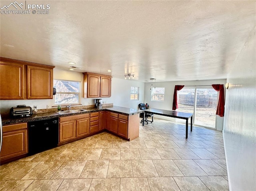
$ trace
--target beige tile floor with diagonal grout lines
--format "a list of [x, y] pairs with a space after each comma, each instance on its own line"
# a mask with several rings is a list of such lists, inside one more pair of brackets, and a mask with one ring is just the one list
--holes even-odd
[[226, 191], [222, 133], [155, 119], [130, 142], [103, 132], [0, 166], [1, 191]]

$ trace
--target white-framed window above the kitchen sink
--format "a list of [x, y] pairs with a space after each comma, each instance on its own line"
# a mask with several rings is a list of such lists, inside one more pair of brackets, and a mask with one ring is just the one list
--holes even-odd
[[56, 88], [54, 105], [80, 104], [80, 82], [54, 80], [53, 87]]

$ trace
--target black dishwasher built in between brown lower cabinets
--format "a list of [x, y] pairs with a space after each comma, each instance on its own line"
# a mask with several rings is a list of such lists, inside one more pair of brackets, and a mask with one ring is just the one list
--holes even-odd
[[58, 146], [58, 118], [28, 122], [28, 154], [33, 155]]

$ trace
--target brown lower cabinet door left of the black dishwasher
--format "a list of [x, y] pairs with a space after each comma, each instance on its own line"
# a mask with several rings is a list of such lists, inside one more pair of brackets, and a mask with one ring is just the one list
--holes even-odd
[[0, 160], [10, 159], [28, 153], [28, 132], [26, 129], [3, 133]]

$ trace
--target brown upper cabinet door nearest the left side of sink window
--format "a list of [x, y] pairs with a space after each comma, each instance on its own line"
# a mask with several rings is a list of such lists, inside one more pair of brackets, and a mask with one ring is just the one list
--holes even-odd
[[52, 69], [28, 66], [28, 99], [52, 99]]

